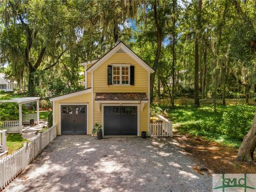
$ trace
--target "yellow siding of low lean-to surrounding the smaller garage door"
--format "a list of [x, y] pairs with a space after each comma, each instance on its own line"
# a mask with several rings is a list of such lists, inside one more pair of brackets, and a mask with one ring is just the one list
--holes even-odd
[[[58, 101], [55, 101], [55, 124], [57, 125], [57, 134], [60, 135], [60, 105], [65, 105], [65, 103], [88, 103], [88, 132], [87, 134], [91, 134], [91, 128], [92, 128], [92, 105], [91, 105], [91, 93], [85, 93], [82, 95], [77, 95], [75, 97], [67, 98], [67, 99], [61, 99]], [[60, 104], [61, 103], [61, 104]]]

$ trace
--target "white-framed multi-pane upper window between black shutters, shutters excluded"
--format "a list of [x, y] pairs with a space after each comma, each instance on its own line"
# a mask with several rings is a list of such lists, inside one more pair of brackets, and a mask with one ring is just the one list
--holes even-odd
[[113, 65], [113, 85], [130, 85], [130, 66]]

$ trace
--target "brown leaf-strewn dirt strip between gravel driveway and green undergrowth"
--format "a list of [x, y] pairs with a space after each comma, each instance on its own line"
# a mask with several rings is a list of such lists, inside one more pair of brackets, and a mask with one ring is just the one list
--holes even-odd
[[[177, 140], [184, 151], [201, 165], [210, 169], [212, 173], [256, 173], [254, 164], [236, 161], [238, 152], [236, 148], [225, 147], [203, 138], [181, 135], [177, 130], [173, 132], [173, 139]], [[198, 166], [194, 169], [197, 170]]]

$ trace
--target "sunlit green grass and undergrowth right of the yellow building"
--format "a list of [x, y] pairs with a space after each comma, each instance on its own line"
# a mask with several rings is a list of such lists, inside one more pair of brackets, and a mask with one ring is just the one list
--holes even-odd
[[217, 113], [214, 113], [213, 105], [199, 108], [178, 105], [174, 109], [169, 106], [159, 107], [180, 133], [203, 136], [204, 139], [232, 147], [241, 145], [256, 111], [256, 106], [249, 105], [218, 105]]

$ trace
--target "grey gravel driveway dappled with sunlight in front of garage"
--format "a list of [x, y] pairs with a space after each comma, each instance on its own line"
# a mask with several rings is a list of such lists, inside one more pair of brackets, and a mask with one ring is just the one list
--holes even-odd
[[61, 135], [4, 191], [210, 191], [171, 138]]

